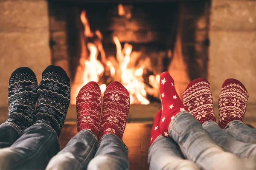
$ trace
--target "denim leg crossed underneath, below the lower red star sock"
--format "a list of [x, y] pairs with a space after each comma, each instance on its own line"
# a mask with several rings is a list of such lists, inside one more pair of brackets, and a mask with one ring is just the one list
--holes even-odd
[[173, 139], [158, 136], [148, 150], [149, 170], [200, 170], [192, 161], [182, 158]]

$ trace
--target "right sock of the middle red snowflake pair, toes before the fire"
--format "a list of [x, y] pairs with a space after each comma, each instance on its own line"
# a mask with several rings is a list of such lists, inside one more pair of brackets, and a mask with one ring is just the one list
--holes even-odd
[[99, 139], [108, 133], [115, 134], [122, 139], [129, 109], [129, 92], [119, 82], [110, 83], [103, 96]]

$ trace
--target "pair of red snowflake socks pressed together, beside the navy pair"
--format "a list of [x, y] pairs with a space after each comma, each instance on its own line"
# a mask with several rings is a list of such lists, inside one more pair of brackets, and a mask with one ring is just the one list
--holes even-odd
[[103, 104], [101, 94], [96, 82], [89, 82], [79, 91], [76, 97], [78, 132], [90, 130], [99, 140], [108, 133], [122, 139], [130, 109], [129, 92], [121, 83], [112, 82], [106, 88]]

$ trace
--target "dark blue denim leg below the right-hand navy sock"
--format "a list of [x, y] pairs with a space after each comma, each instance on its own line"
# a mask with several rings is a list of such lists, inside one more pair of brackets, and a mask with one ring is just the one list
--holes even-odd
[[0, 149], [1, 170], [44, 170], [58, 153], [58, 136], [48, 125], [28, 127], [11, 147]]

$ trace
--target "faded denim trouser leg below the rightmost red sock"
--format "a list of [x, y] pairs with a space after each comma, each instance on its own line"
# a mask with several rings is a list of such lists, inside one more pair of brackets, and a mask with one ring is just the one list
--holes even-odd
[[238, 141], [256, 144], [256, 129], [250, 128], [240, 120], [229, 122], [224, 130]]

